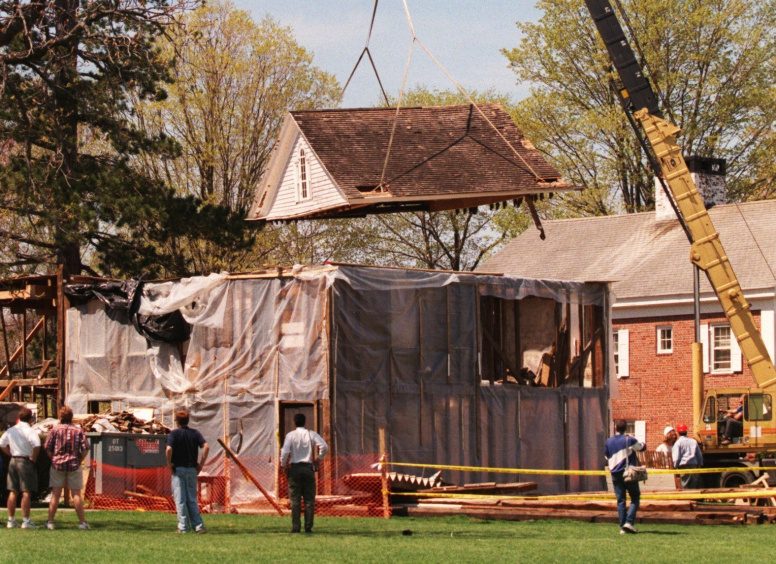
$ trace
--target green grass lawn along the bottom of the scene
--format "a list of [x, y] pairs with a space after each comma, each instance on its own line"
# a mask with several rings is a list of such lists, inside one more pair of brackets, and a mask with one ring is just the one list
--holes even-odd
[[[480, 521], [464, 517], [390, 520], [316, 518], [312, 535], [289, 534], [289, 519], [205, 515], [206, 535], [178, 535], [175, 516], [72, 512], [58, 529], [1, 529], [0, 562], [773, 562], [776, 526], [640, 525]], [[45, 522], [42, 510], [33, 520]], [[406, 534], [410, 532], [411, 534]]]

